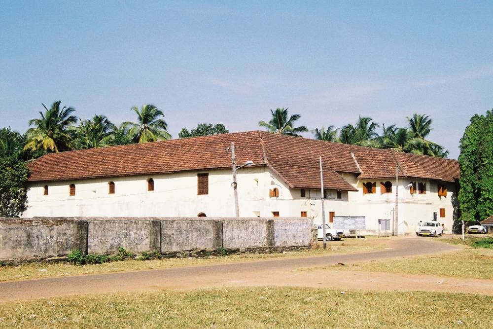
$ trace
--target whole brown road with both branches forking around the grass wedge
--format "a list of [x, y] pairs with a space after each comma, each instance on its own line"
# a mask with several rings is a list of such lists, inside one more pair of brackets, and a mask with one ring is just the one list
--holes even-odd
[[442, 278], [348, 271], [297, 271], [390, 257], [437, 254], [459, 247], [427, 238], [392, 240], [390, 248], [369, 253], [285, 258], [245, 263], [170, 268], [0, 283], [0, 301], [59, 295], [196, 289], [233, 286], [303, 286], [364, 290], [426, 290], [493, 294], [493, 280]]

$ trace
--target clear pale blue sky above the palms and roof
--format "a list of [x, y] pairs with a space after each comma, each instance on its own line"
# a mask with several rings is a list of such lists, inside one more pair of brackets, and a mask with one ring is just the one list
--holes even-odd
[[259, 129], [277, 107], [310, 129], [418, 112], [457, 158], [470, 117], [493, 108], [491, 1], [0, 5], [0, 127], [20, 132], [58, 99], [115, 123], [152, 103], [174, 137]]

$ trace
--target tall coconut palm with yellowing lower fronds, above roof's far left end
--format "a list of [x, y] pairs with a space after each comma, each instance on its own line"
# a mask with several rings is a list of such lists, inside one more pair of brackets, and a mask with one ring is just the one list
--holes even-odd
[[62, 101], [56, 101], [47, 108], [44, 113], [39, 111], [41, 118], [29, 120], [26, 150], [58, 152], [71, 149], [70, 125], [77, 122], [77, 117], [72, 115], [75, 111], [71, 107], [61, 107]]

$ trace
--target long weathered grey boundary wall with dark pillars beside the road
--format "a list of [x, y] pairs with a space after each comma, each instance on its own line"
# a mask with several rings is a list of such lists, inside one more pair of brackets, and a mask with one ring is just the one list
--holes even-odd
[[0, 259], [298, 247], [312, 242], [307, 218], [0, 218]]

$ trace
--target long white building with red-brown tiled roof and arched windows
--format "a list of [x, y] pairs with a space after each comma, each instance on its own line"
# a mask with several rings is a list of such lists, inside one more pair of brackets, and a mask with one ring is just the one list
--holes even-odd
[[43, 155], [22, 217], [234, 217], [232, 142], [237, 165], [251, 161], [237, 174], [241, 217], [321, 222], [321, 156], [327, 222], [364, 216], [375, 233], [398, 189], [400, 234], [434, 218], [452, 229], [458, 161], [262, 131]]

